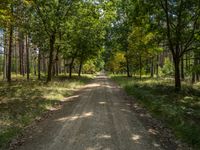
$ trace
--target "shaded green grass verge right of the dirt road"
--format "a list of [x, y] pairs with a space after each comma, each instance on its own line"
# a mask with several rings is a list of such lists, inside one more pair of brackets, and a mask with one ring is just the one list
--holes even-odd
[[182, 141], [200, 149], [200, 86], [183, 83], [182, 91], [174, 92], [173, 80], [127, 78], [112, 75], [125, 91], [172, 129]]

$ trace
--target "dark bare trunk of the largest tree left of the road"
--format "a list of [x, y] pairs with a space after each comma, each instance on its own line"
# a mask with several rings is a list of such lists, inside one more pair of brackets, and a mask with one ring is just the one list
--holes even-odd
[[56, 39], [55, 33], [53, 33], [50, 36], [50, 52], [49, 52], [49, 65], [48, 65], [47, 82], [50, 82], [51, 78], [52, 78], [53, 52], [54, 52], [55, 39]]

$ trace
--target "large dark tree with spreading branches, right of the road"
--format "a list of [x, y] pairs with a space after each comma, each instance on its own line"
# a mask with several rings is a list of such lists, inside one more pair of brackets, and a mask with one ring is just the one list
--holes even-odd
[[200, 3], [199, 1], [172, 1], [159, 2], [164, 12], [163, 31], [166, 32], [168, 47], [173, 56], [175, 69], [175, 89], [180, 91], [180, 60], [182, 56], [196, 48], [195, 35], [199, 33]]

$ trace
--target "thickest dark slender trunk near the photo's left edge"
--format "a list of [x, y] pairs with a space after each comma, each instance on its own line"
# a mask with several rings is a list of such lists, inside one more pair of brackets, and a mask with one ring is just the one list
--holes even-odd
[[10, 26], [9, 31], [9, 49], [8, 49], [8, 69], [7, 69], [7, 81], [11, 82], [11, 65], [12, 65], [12, 44], [13, 44], [13, 26]]

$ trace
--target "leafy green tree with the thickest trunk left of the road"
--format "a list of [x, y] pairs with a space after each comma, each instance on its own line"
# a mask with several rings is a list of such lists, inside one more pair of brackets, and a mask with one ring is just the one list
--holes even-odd
[[46, 32], [44, 34], [46, 34], [49, 38], [47, 82], [51, 81], [52, 78], [56, 36], [60, 32], [62, 25], [66, 22], [66, 19], [69, 16], [70, 10], [74, 3], [75, 1], [71, 0], [33, 0], [33, 3], [31, 3], [34, 12], [37, 15], [35, 19], [38, 19], [38, 22], [42, 24]]

